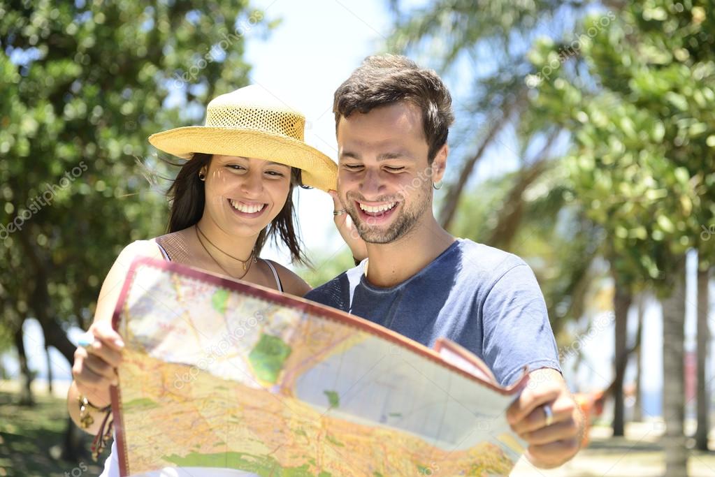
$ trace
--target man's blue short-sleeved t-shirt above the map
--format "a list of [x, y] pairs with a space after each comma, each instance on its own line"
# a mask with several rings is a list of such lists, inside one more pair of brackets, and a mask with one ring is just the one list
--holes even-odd
[[518, 256], [457, 239], [397, 286], [365, 278], [365, 261], [305, 298], [378, 323], [432, 348], [449, 338], [479, 356], [503, 386], [530, 370], [561, 371], [546, 303]]

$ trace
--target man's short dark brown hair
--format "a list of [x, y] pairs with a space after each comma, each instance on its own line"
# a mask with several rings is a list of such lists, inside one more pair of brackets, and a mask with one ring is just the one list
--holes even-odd
[[368, 56], [335, 91], [332, 112], [335, 131], [341, 117], [354, 111], [368, 113], [379, 106], [410, 101], [422, 111], [422, 126], [429, 146], [428, 162], [447, 142], [454, 121], [452, 96], [432, 69], [420, 68], [399, 55]]

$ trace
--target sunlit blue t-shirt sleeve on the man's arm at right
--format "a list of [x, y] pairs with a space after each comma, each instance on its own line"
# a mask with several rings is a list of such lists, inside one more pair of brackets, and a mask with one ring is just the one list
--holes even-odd
[[526, 263], [494, 283], [483, 301], [482, 320], [485, 362], [502, 386], [513, 383], [523, 366], [561, 372], [546, 303]]

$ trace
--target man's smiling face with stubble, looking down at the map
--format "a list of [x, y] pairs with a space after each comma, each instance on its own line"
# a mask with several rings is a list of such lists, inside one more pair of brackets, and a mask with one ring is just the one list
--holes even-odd
[[337, 145], [337, 192], [363, 240], [397, 241], [431, 216], [433, 176], [418, 106], [399, 101], [342, 117]]

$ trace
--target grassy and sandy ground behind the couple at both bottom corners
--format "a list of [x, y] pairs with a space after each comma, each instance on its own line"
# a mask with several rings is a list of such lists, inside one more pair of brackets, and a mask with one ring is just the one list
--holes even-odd
[[[102, 468], [90, 457], [89, 436], [84, 439], [84, 453], [79, 458], [59, 458], [67, 425], [64, 398], [38, 393], [36, 399], [37, 406], [25, 408], [16, 405], [16, 393], [0, 391], [0, 476], [98, 476]], [[626, 437], [612, 438], [608, 428], [596, 427], [588, 448], [566, 466], [545, 471], [522, 459], [511, 476], [662, 476], [665, 466], [659, 445], [661, 428], [657, 423], [628, 423]], [[691, 453], [689, 471], [690, 477], [715, 477], [715, 453]]]

